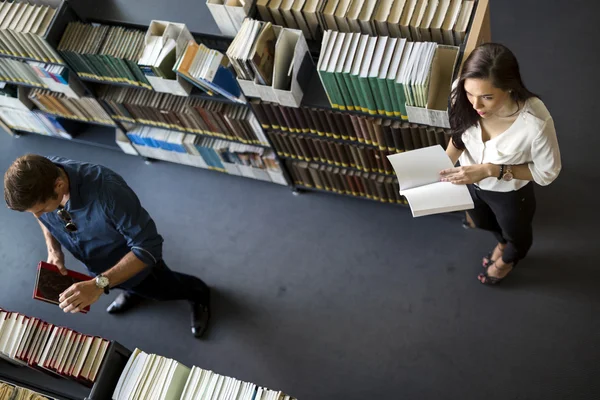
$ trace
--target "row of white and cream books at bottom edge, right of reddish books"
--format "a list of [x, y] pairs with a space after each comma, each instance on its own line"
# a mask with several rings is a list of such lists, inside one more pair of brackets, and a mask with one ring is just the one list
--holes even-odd
[[168, 400], [295, 400], [281, 391], [195, 366], [190, 369], [176, 360], [135, 349], [112, 398], [142, 400], [154, 393], [161, 393], [156, 398]]

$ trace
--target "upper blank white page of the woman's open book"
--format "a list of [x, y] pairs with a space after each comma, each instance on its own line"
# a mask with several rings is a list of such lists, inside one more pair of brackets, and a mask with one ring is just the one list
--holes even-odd
[[400, 194], [430, 183], [439, 182], [440, 171], [452, 168], [452, 161], [442, 146], [430, 146], [388, 156], [400, 184]]

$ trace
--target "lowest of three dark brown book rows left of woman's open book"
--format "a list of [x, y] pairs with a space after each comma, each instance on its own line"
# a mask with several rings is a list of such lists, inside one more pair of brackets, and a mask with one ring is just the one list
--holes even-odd
[[299, 186], [363, 197], [383, 203], [408, 204], [400, 196], [398, 180], [391, 176], [357, 172], [306, 161], [289, 161], [288, 169]]

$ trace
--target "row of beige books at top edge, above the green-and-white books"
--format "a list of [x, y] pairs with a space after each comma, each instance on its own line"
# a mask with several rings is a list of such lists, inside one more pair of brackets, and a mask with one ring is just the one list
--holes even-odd
[[258, 0], [263, 21], [301, 29], [309, 39], [322, 32], [356, 32], [460, 46], [474, 1], [463, 0]]

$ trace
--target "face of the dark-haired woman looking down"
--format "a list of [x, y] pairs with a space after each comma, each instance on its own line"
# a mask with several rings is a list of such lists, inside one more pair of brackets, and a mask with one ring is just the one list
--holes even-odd
[[498, 89], [489, 79], [465, 79], [465, 92], [481, 118], [489, 118], [511, 104], [508, 91]]

